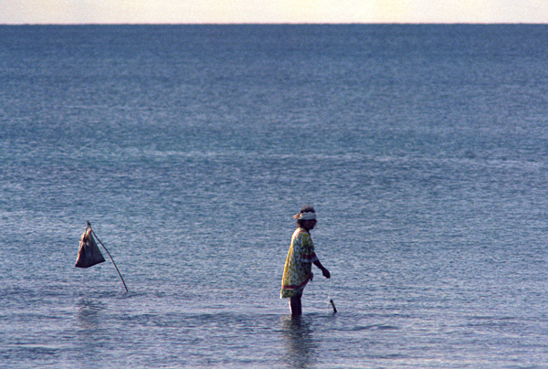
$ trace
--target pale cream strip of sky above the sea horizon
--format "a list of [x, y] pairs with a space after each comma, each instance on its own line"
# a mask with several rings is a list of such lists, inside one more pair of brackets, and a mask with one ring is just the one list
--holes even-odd
[[0, 24], [548, 23], [548, 0], [0, 0]]

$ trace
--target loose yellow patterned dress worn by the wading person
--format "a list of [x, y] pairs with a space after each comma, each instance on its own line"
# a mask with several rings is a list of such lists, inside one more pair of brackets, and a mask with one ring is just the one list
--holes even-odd
[[280, 298], [291, 298], [304, 290], [312, 279], [312, 262], [316, 260], [310, 233], [304, 228], [297, 228], [291, 237], [290, 251], [283, 269]]

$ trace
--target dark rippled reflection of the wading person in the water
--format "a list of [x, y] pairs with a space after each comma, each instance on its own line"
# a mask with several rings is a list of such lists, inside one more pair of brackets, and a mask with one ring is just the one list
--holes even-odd
[[290, 368], [308, 368], [316, 361], [317, 343], [311, 330], [311, 318], [284, 316], [281, 320], [286, 354], [284, 362]]

